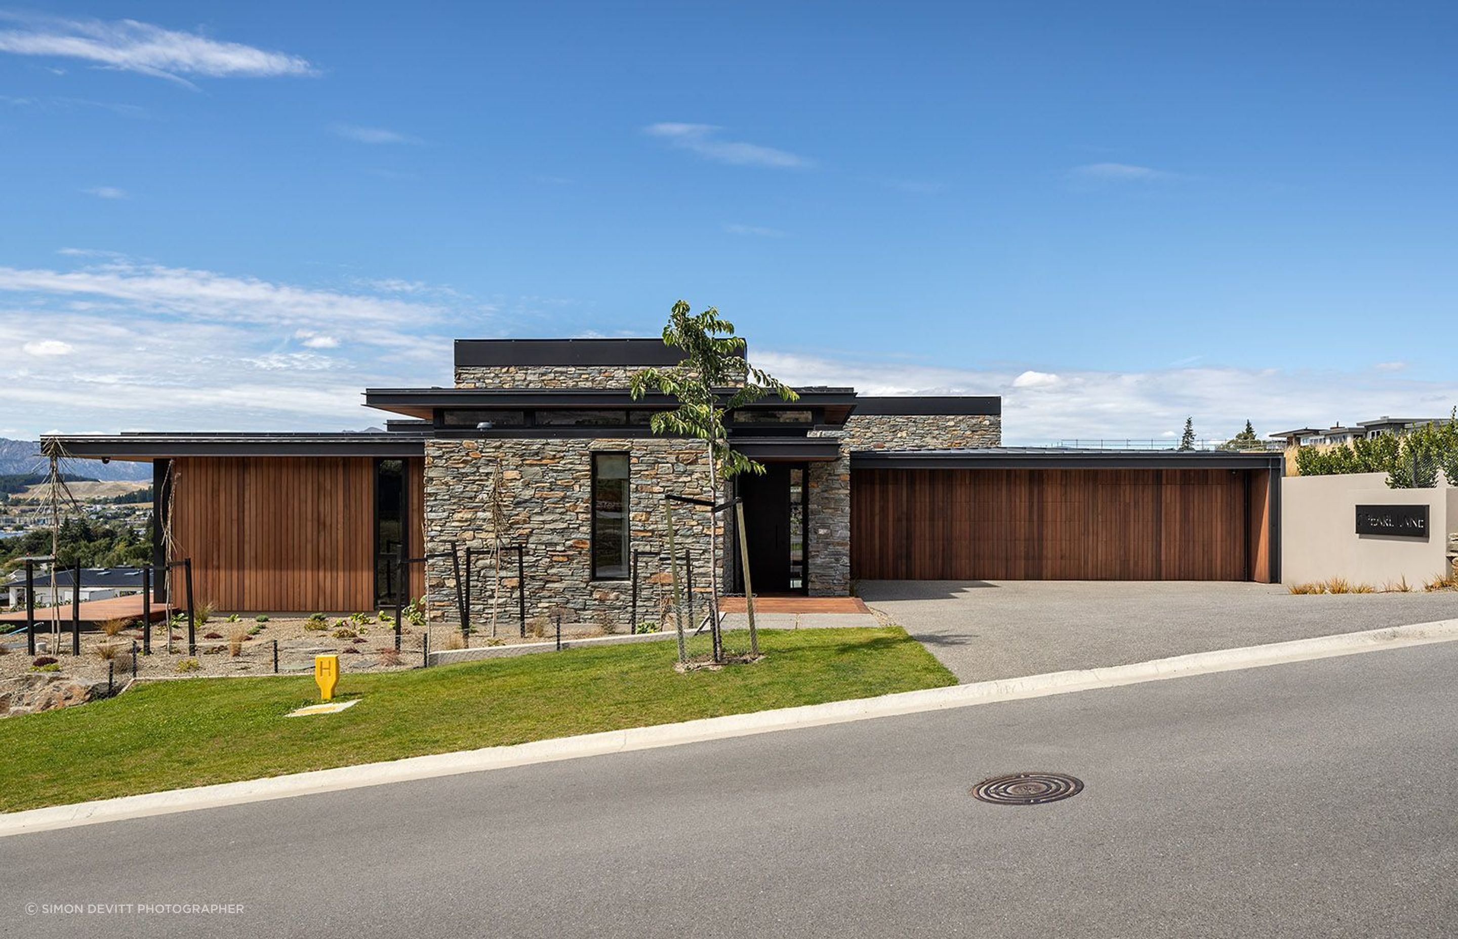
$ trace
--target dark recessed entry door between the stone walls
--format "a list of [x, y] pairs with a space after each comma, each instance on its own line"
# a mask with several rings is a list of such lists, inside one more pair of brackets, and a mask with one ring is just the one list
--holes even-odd
[[754, 592], [803, 592], [805, 465], [765, 464], [764, 475], [744, 472], [736, 480]]

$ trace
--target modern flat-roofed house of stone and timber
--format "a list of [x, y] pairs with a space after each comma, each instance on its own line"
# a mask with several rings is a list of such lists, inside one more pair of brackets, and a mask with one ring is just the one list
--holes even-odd
[[[451, 388], [372, 388], [397, 417], [366, 433], [58, 436], [77, 458], [150, 461], [157, 561], [192, 558], [220, 609], [344, 611], [399, 592], [455, 618], [451, 545], [472, 547], [475, 615], [625, 623], [662, 585], [665, 496], [707, 499], [704, 443], [655, 435], [672, 402], [630, 376], [659, 340], [458, 340]], [[854, 579], [1280, 579], [1280, 453], [1002, 446], [996, 397], [799, 388], [729, 416], [764, 464], [744, 500], [755, 592], [847, 595]], [[728, 394], [728, 392], [726, 392]], [[730, 519], [675, 503], [675, 544], [707, 586], [742, 591]], [[504, 545], [504, 548], [503, 548]], [[484, 564], [484, 567], [481, 567]], [[639, 614], [640, 618], [643, 614]]]

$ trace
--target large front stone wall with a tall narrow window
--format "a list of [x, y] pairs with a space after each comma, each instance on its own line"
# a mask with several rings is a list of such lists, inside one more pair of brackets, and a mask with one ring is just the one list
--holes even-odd
[[[704, 449], [695, 440], [625, 439], [432, 439], [426, 442], [426, 550], [449, 551], [456, 542], [490, 551], [493, 488], [506, 542], [525, 541], [528, 620], [547, 628], [554, 614], [564, 623], [589, 623], [628, 631], [631, 582], [592, 580], [592, 453], [627, 452], [631, 547], [640, 551], [639, 621], [660, 620], [671, 592], [663, 494], [709, 497]], [[497, 467], [500, 478], [497, 480]], [[679, 556], [693, 554], [697, 608], [709, 592], [709, 519], [703, 509], [674, 506]], [[720, 545], [723, 525], [716, 525]], [[720, 547], [720, 558], [723, 550]], [[681, 576], [684, 570], [679, 570]], [[490, 561], [475, 564], [472, 626], [490, 630], [494, 577]], [[426, 595], [434, 620], [456, 621], [455, 573], [449, 557], [426, 564]], [[665, 627], [671, 626], [668, 623]], [[518, 630], [515, 553], [503, 553], [497, 631]]]

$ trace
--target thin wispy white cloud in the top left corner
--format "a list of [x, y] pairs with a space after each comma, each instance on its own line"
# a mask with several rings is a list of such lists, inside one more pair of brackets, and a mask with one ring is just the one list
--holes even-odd
[[191, 77], [309, 76], [306, 58], [197, 32], [163, 29], [134, 19], [61, 19], [0, 16], [17, 23], [0, 31], [0, 52], [79, 58], [104, 69], [136, 71], [191, 86]]

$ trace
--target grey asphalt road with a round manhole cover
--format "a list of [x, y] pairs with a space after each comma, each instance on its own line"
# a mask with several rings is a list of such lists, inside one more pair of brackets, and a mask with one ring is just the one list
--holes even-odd
[[[3, 838], [0, 933], [1452, 936], [1455, 674], [1443, 643]], [[968, 796], [1018, 770], [1086, 789]]]

